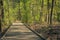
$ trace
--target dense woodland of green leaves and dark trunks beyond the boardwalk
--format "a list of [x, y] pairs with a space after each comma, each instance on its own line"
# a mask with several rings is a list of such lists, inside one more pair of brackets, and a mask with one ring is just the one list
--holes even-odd
[[39, 33], [59, 25], [60, 0], [0, 0], [0, 29], [17, 20]]

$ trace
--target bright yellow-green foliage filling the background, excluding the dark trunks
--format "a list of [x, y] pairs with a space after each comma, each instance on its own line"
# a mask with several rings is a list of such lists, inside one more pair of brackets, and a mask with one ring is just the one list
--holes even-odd
[[[51, 13], [52, 0], [4, 0], [4, 24], [20, 20], [24, 23], [48, 24]], [[49, 10], [48, 10], [49, 7]], [[49, 11], [49, 13], [48, 13]], [[60, 2], [56, 0], [53, 8], [53, 23], [60, 21]], [[58, 13], [59, 12], [59, 13]]]

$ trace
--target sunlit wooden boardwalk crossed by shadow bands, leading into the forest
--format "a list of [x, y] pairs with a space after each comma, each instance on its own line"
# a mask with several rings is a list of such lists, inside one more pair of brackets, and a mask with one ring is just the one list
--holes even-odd
[[1, 40], [41, 40], [22, 23], [13, 23]]

